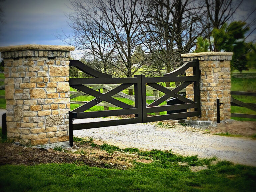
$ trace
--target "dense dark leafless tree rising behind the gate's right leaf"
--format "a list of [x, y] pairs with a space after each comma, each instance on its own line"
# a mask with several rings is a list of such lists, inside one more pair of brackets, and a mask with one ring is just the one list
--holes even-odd
[[[166, 73], [179, 67], [180, 55], [195, 46], [198, 36], [204, 31], [201, 1], [149, 0], [150, 18], [143, 22], [143, 42], [157, 59], [162, 60]], [[169, 86], [169, 82], [166, 82]]]

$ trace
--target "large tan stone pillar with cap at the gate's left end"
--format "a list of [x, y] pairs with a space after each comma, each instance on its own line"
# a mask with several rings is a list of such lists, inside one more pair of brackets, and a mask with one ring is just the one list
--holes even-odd
[[1, 47], [7, 138], [25, 145], [68, 141], [72, 46]]

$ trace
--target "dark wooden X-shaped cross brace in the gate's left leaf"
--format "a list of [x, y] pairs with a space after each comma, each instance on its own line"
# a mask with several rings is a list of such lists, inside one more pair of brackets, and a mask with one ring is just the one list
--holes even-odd
[[97, 105], [98, 103], [102, 102], [102, 101], [107, 101], [117, 107], [121, 107], [123, 109], [131, 109], [131, 108], [134, 108], [133, 106], [131, 105], [128, 105], [124, 102], [121, 102], [117, 99], [114, 99], [112, 98], [111, 96], [119, 93], [120, 91], [130, 87], [131, 85], [133, 85], [132, 83], [126, 83], [126, 84], [121, 84], [120, 86], [112, 89], [111, 91], [103, 94], [103, 93], [100, 93], [98, 91], [95, 91], [89, 87], [86, 87], [84, 85], [72, 85], [73, 88], [79, 90], [79, 91], [82, 91], [82, 92], [85, 92], [85, 93], [88, 93], [89, 95], [92, 95], [94, 97], [96, 97], [95, 99], [89, 101], [88, 103], [76, 108], [73, 110], [73, 112], [84, 112], [86, 111], [87, 109]]

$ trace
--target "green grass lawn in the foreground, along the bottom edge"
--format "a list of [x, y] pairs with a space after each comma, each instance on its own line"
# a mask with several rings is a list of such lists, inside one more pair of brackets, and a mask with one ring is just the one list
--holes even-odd
[[[108, 145], [104, 146], [110, 150]], [[104, 149], [103, 147], [103, 149]], [[112, 147], [113, 148], [113, 147]], [[117, 150], [118, 147], [113, 148]], [[153, 191], [153, 192], [250, 192], [256, 188], [256, 167], [233, 165], [197, 156], [177, 156], [152, 150], [138, 152], [153, 163], [134, 162], [127, 170], [89, 167], [76, 164], [40, 164], [34, 166], [0, 166], [0, 188], [5, 192], [19, 191]], [[179, 165], [178, 162], [187, 163]], [[190, 166], [208, 166], [192, 172]]]

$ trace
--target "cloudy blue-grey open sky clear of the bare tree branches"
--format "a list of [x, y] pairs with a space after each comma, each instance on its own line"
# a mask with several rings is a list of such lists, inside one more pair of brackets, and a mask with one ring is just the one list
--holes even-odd
[[[65, 12], [68, 0], [5, 0], [0, 6], [4, 11], [4, 24], [0, 23], [0, 47], [22, 44], [64, 45], [55, 35], [62, 30], [71, 33]], [[244, 0], [237, 10], [237, 18], [248, 15], [256, 8], [253, 0]], [[256, 15], [252, 15], [251, 18]], [[256, 39], [256, 31], [249, 40]]]

